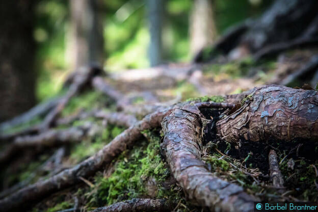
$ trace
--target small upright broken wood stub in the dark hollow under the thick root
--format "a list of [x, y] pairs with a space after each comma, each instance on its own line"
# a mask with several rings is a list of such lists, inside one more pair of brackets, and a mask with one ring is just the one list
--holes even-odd
[[270, 164], [270, 179], [273, 181], [273, 186], [277, 189], [283, 189], [284, 178], [279, 170], [277, 155], [273, 149], [271, 149], [269, 153], [269, 164]]

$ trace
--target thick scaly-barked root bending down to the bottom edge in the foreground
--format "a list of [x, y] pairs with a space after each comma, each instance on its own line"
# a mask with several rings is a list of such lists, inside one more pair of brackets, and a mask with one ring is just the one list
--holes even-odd
[[213, 211], [252, 211], [253, 197], [242, 187], [216, 177], [200, 160], [200, 114], [196, 105], [186, 105], [162, 121], [163, 148], [173, 176], [189, 199], [201, 206]]

